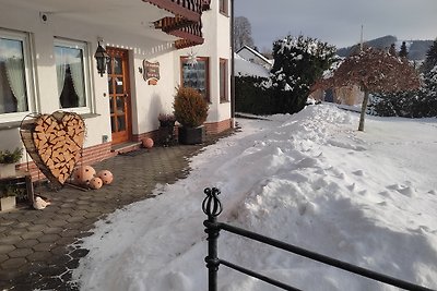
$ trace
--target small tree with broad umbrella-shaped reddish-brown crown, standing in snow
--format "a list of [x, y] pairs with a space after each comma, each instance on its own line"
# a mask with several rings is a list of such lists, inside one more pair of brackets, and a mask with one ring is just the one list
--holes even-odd
[[368, 48], [342, 62], [328, 78], [319, 80], [312, 89], [358, 85], [364, 92], [358, 131], [364, 131], [364, 119], [369, 93], [395, 93], [420, 87], [416, 71], [404, 58]]

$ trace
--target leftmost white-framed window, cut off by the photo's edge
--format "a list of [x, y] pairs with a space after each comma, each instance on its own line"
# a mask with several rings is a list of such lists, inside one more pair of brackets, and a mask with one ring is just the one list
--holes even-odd
[[28, 36], [0, 29], [0, 121], [19, 121], [31, 108]]

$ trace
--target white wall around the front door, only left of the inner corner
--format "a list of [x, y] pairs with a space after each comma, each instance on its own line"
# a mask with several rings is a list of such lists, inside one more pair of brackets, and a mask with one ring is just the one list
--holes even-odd
[[[102, 143], [102, 136], [110, 137], [108, 84], [104, 75], [101, 77], [95, 70], [93, 54], [97, 47], [97, 37], [103, 37], [107, 46], [128, 49], [132, 64], [130, 70], [133, 133], [142, 133], [157, 128], [157, 114], [170, 110], [175, 75], [173, 72], [173, 47], [154, 39], [146, 39], [126, 32], [114, 32], [105, 27], [91, 26], [71, 22], [61, 15], [49, 14], [47, 23], [39, 20], [39, 13], [3, 5], [0, 11], [0, 28], [21, 31], [31, 34], [33, 59], [35, 62], [35, 98], [37, 105], [32, 111], [51, 113], [59, 110], [57, 76], [54, 57], [55, 37], [86, 41], [90, 48], [91, 95], [94, 102], [94, 118], [85, 119], [87, 134], [85, 147]], [[157, 32], [160, 33], [160, 32]], [[142, 68], [143, 59], [160, 61], [161, 80], [156, 86], [146, 85], [138, 68]], [[105, 96], [106, 95], [106, 96]], [[138, 124], [135, 124], [138, 121]], [[17, 129], [1, 131], [2, 136], [10, 136], [20, 144]], [[5, 148], [12, 148], [13, 145]], [[2, 148], [2, 146], [0, 146]]]

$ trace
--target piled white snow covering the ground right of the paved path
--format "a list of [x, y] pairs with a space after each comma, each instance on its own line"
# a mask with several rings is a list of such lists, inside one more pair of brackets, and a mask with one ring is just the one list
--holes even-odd
[[[187, 179], [83, 239], [82, 290], [206, 290], [211, 186], [221, 221], [437, 289], [437, 119], [367, 117], [358, 132], [356, 112], [323, 104], [237, 121], [241, 131], [193, 157]], [[303, 290], [398, 290], [224, 231], [218, 255]], [[218, 290], [277, 289], [221, 266]]]

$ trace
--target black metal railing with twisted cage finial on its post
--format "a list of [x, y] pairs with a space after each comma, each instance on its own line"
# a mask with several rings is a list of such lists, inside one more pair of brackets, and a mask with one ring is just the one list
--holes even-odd
[[205, 257], [206, 268], [209, 270], [209, 291], [216, 291], [217, 290], [217, 271], [218, 266], [224, 265], [248, 276], [258, 278], [267, 283], [276, 286], [284, 290], [299, 290], [297, 288], [291, 287], [283, 282], [276, 281], [272, 278], [263, 276], [261, 274], [255, 272], [252, 270], [246, 269], [241, 266], [236, 264], [229, 263], [227, 260], [221, 259], [217, 257], [217, 241], [218, 234], [221, 230], [226, 230], [231, 233], [241, 235], [271, 246], [275, 246], [277, 248], [291, 252], [293, 254], [297, 254], [304, 257], [307, 257], [312, 260], [317, 260], [330, 266], [333, 266], [339, 269], [346, 270], [349, 272], [353, 272], [356, 275], [361, 275], [363, 277], [383, 282], [390, 286], [399, 287], [404, 290], [412, 290], [412, 291], [436, 291], [429, 288], [421, 287], [417, 284], [413, 284], [393, 277], [389, 277], [369, 269], [365, 269], [332, 257], [328, 257], [324, 255], [320, 255], [318, 253], [310, 252], [308, 250], [287, 244], [277, 240], [273, 240], [271, 238], [258, 234], [256, 232], [251, 232], [245, 229], [240, 229], [237, 227], [233, 227], [227, 223], [218, 222], [217, 217], [222, 213], [222, 203], [220, 202], [217, 195], [220, 194], [220, 190], [216, 187], [213, 189], [205, 189], [204, 193], [206, 197], [203, 199], [202, 209], [203, 213], [208, 216], [208, 220], [203, 221], [205, 226], [205, 232], [208, 233], [208, 256]]

